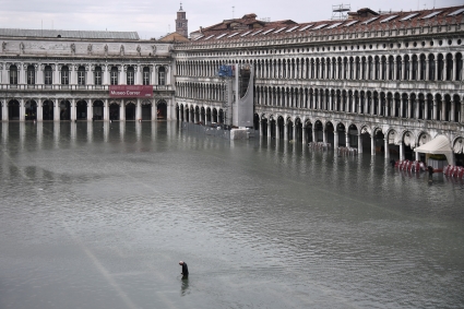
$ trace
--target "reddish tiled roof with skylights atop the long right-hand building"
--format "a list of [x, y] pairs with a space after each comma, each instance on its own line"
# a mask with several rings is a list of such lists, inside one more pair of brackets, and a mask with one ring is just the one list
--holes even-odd
[[241, 19], [226, 20], [222, 23], [200, 28], [191, 33], [192, 44], [203, 41], [222, 43], [226, 40], [259, 40], [260, 38], [279, 38], [318, 33], [341, 33], [361, 31], [383, 31], [404, 26], [428, 26], [430, 24], [450, 24], [464, 21], [464, 5], [438, 8], [407, 12], [376, 12], [368, 8], [349, 12], [344, 21], [317, 21], [296, 23], [292, 20], [264, 22], [257, 14], [246, 14]]

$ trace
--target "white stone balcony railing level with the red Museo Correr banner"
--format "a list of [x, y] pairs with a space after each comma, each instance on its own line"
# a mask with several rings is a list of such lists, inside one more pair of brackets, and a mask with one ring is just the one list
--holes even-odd
[[[109, 91], [109, 85], [0, 84], [0, 91]], [[153, 85], [154, 92], [174, 91], [172, 85]]]

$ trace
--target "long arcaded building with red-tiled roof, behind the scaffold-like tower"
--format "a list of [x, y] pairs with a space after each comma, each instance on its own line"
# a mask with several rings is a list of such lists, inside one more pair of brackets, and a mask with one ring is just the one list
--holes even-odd
[[222, 64], [252, 66], [254, 128], [302, 143], [397, 152], [439, 134], [462, 161], [464, 8], [345, 21], [224, 21], [175, 46], [176, 104], [183, 121], [221, 122]]

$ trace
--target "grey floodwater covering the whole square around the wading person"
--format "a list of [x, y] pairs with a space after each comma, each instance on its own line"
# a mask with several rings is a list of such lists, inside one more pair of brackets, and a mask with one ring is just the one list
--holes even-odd
[[442, 175], [176, 122], [0, 139], [2, 309], [464, 307], [464, 187]]

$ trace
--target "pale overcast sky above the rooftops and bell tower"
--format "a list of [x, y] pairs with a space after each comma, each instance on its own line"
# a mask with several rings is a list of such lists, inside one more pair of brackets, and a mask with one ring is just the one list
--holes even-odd
[[[411, 11], [461, 5], [464, 0], [344, 0], [352, 11]], [[189, 33], [223, 20], [255, 13], [258, 19], [297, 23], [329, 20], [332, 4], [324, 0], [183, 0]], [[175, 31], [180, 1], [166, 0], [0, 0], [0, 27], [84, 31], [135, 31], [141, 38], [159, 38]], [[235, 7], [233, 11], [233, 7]], [[234, 12], [234, 13], [233, 13]]]

